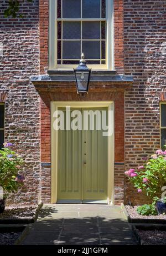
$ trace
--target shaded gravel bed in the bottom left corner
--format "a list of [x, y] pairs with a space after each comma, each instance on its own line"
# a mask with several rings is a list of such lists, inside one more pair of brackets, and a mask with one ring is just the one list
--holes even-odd
[[12, 245], [19, 238], [21, 232], [0, 233], [0, 245]]

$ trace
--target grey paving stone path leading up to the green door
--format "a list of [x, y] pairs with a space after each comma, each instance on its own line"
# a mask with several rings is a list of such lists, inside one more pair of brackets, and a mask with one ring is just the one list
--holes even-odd
[[44, 205], [22, 244], [137, 244], [121, 208], [110, 205]]

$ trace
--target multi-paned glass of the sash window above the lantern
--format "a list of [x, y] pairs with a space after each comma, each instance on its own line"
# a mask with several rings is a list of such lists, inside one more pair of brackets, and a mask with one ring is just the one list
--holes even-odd
[[58, 0], [57, 17], [58, 65], [78, 64], [82, 52], [87, 64], [106, 64], [105, 0]]

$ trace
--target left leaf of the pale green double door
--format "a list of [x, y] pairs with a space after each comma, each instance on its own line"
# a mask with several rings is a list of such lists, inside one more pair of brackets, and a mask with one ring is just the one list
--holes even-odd
[[81, 130], [58, 130], [58, 202], [82, 200], [81, 142]]

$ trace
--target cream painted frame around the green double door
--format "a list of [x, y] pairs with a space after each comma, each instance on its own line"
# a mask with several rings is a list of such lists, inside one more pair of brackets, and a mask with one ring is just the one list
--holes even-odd
[[70, 106], [71, 108], [108, 108], [108, 126], [111, 127], [111, 135], [108, 137], [108, 180], [107, 180], [107, 202], [114, 203], [114, 102], [51, 102], [51, 203], [57, 202], [58, 192], [58, 130], [54, 130], [54, 112], [58, 108]]

